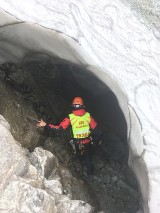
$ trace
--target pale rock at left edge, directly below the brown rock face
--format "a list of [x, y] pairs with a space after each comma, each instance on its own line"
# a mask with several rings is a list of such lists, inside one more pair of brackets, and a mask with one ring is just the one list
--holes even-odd
[[9, 125], [2, 116], [0, 116], [0, 147], [0, 193], [2, 193], [12, 175], [23, 176], [28, 170], [25, 152], [20, 144], [14, 141], [9, 132]]

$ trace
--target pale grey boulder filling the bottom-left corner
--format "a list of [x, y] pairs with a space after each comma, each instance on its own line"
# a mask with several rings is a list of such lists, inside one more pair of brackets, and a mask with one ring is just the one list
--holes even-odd
[[7, 212], [54, 213], [54, 198], [44, 190], [34, 188], [22, 181], [13, 181], [0, 199], [0, 209]]

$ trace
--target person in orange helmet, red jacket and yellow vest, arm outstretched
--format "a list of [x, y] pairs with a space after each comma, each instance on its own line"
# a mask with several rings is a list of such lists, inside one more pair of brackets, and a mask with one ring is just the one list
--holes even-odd
[[38, 121], [38, 127], [54, 129], [58, 132], [66, 130], [69, 126], [72, 129], [72, 145], [75, 147], [76, 155], [86, 168], [87, 180], [93, 180], [93, 143], [100, 140], [100, 131], [97, 122], [85, 110], [83, 99], [75, 97], [72, 102], [73, 111], [58, 126], [47, 124], [43, 120]]

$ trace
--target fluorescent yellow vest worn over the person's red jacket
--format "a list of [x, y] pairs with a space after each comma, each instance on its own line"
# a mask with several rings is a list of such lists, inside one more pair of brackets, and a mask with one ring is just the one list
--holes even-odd
[[87, 138], [90, 135], [90, 113], [86, 112], [82, 116], [77, 116], [75, 114], [69, 114], [72, 133], [74, 138]]

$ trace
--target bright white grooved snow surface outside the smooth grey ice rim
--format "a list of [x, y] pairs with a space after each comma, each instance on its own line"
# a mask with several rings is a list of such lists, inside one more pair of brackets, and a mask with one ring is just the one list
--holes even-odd
[[1, 0], [0, 8], [76, 39], [97, 67], [118, 81], [142, 126], [150, 184], [146, 212], [160, 212], [160, 33], [120, 0]]

